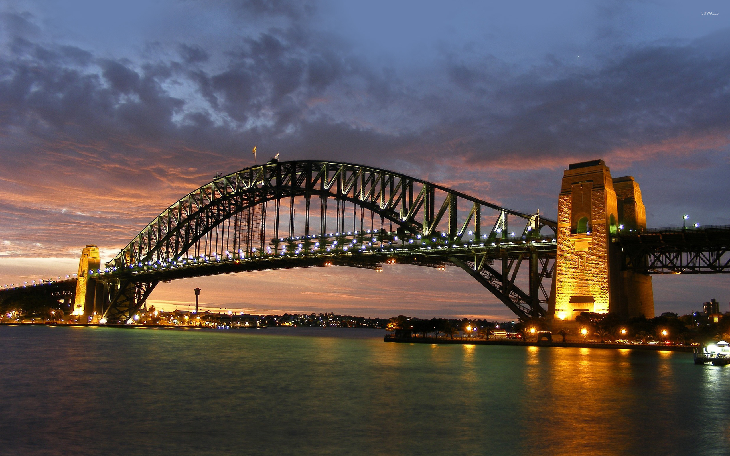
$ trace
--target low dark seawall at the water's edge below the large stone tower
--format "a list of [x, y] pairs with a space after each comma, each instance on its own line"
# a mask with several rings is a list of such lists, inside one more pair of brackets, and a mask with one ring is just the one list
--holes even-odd
[[484, 339], [441, 339], [435, 337], [393, 337], [389, 334], [385, 335], [383, 339], [385, 342], [397, 342], [405, 344], [461, 344], [461, 345], [512, 345], [517, 347], [566, 347], [566, 348], [600, 348], [600, 349], [639, 349], [639, 350], [653, 350], [653, 351], [665, 351], [665, 352], [685, 352], [692, 353], [693, 348], [690, 345], [646, 345], [646, 344], [601, 344], [601, 343], [588, 343], [588, 342], [527, 342], [527, 341], [515, 341], [515, 340], [491, 340], [487, 341]]

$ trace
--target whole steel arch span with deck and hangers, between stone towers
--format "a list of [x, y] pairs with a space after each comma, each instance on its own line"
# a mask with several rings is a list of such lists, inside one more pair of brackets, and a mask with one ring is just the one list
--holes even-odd
[[172, 279], [313, 266], [380, 272], [391, 263], [451, 265], [526, 320], [546, 314], [543, 279], [553, 278], [556, 229], [539, 212], [385, 169], [274, 160], [216, 176], [90, 275], [104, 285], [103, 321], [111, 323], [127, 322], [158, 282]]

